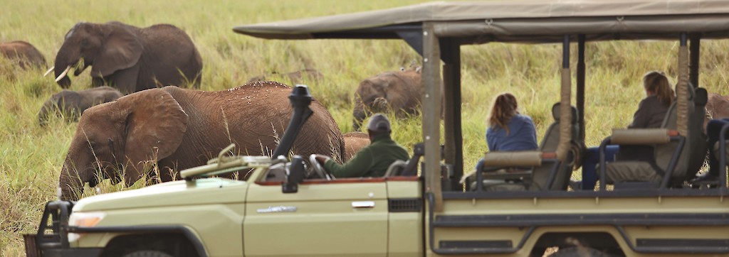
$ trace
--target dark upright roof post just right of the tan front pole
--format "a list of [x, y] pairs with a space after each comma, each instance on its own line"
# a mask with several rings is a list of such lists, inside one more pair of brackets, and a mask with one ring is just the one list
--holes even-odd
[[463, 131], [461, 130], [461, 45], [451, 38], [440, 39], [443, 59], [443, 122], [445, 163], [453, 165], [450, 189], [461, 190], [463, 176]]

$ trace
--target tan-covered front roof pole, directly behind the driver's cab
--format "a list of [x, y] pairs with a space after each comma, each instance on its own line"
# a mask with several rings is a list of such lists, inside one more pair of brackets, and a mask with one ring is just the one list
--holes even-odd
[[440, 44], [432, 23], [423, 25], [423, 142], [425, 144], [425, 192], [433, 195], [434, 211], [443, 211], [440, 179]]

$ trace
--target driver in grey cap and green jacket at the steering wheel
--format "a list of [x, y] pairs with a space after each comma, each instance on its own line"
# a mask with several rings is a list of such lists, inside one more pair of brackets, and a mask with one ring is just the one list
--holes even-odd
[[370, 145], [360, 149], [351, 159], [339, 165], [334, 160], [318, 156], [324, 169], [338, 178], [384, 176], [395, 160], [408, 160], [408, 150], [390, 138], [390, 121], [380, 113], [373, 115], [367, 123]]

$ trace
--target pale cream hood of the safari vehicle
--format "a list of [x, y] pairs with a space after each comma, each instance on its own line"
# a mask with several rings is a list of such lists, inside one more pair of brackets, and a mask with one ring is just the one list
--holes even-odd
[[248, 184], [233, 179], [171, 181], [141, 189], [94, 195], [79, 200], [73, 211], [106, 211], [172, 205], [244, 203]]

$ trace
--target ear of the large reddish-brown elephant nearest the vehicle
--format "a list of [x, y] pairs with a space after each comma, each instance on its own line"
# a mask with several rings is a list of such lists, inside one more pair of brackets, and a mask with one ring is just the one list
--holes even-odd
[[149, 170], [149, 164], [177, 150], [185, 131], [187, 113], [162, 89], [148, 89], [117, 99], [128, 111], [124, 152], [127, 158], [124, 179], [127, 186]]

